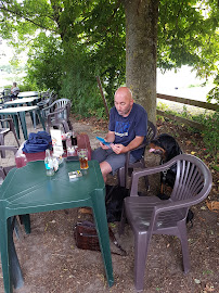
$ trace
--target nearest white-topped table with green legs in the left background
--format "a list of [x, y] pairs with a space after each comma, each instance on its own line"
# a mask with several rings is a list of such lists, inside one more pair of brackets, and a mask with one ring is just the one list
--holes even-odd
[[26, 112], [33, 112], [33, 117], [34, 117], [34, 127], [36, 128], [36, 113], [38, 114], [40, 122], [42, 124], [43, 129], [44, 128], [44, 120], [41, 116], [40, 110], [37, 105], [34, 106], [16, 106], [16, 107], [5, 107], [0, 110], [0, 115], [11, 115], [14, 122], [15, 130], [17, 138], [20, 139], [20, 128], [18, 128], [18, 118], [22, 125], [22, 130], [24, 135], [24, 139], [27, 140], [27, 125], [26, 125], [26, 119], [25, 119], [25, 113]]

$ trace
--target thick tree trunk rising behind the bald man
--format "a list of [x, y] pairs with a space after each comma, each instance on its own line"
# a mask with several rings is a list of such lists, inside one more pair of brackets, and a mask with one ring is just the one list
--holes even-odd
[[159, 0], [125, 0], [126, 84], [156, 122], [156, 61]]

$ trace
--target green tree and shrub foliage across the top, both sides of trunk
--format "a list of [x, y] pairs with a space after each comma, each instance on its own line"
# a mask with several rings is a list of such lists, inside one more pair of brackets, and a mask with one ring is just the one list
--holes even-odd
[[[137, 1], [129, 2], [129, 5], [136, 5]], [[218, 1], [156, 2], [155, 66], [166, 71], [189, 64], [202, 77], [216, 78], [219, 62]], [[28, 49], [25, 82], [39, 89], [55, 89], [73, 100], [77, 113], [101, 116], [104, 107], [95, 76], [104, 81], [110, 105], [115, 89], [126, 82], [128, 20], [124, 3], [126, 0], [0, 1], [1, 37], [17, 48], [17, 54]], [[142, 11], [139, 7], [133, 9], [138, 17]]]

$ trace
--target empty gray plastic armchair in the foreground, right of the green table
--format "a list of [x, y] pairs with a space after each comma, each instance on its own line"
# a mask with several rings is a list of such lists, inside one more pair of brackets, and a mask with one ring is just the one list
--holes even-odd
[[[138, 196], [138, 181], [142, 176], [167, 170], [176, 165], [177, 176], [169, 200], [157, 196]], [[134, 285], [143, 290], [144, 271], [150, 241], [153, 234], [176, 235], [181, 241], [184, 272], [190, 270], [186, 215], [189, 207], [202, 202], [210, 192], [211, 174], [197, 157], [181, 154], [164, 165], [133, 171], [130, 196], [125, 199], [119, 234], [126, 218], [134, 233]]]

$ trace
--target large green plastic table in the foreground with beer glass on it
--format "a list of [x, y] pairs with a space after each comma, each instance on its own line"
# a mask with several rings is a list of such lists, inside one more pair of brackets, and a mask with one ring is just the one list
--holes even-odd
[[93, 209], [106, 278], [108, 285], [113, 285], [105, 184], [101, 169], [96, 161], [89, 161], [87, 174], [69, 181], [68, 171], [77, 169], [79, 162], [64, 161], [53, 177], [47, 177], [43, 161], [36, 161], [8, 174], [0, 188], [0, 249], [5, 293], [12, 292], [11, 217], [80, 206], [90, 206]]

